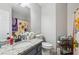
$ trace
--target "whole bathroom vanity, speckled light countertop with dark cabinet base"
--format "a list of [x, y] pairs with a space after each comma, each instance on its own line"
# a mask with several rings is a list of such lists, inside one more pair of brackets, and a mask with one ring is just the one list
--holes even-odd
[[42, 39], [21, 41], [13, 46], [5, 45], [0, 48], [0, 55], [41, 55]]

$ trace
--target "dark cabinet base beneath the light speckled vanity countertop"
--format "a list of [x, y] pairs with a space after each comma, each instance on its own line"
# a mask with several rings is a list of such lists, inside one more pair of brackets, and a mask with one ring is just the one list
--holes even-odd
[[41, 55], [42, 54], [41, 46], [42, 46], [42, 44], [39, 43], [39, 44], [31, 47], [30, 49], [19, 53], [18, 55]]

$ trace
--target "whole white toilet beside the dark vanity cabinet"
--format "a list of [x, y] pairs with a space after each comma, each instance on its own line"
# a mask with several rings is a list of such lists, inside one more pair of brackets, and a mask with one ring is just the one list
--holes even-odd
[[48, 42], [42, 42], [42, 55], [50, 55], [53, 45]]

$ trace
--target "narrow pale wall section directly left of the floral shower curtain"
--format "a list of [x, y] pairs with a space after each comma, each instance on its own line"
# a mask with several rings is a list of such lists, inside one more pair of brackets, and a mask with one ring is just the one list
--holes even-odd
[[67, 5], [67, 34], [73, 34], [74, 11], [79, 8], [79, 3], [68, 3]]

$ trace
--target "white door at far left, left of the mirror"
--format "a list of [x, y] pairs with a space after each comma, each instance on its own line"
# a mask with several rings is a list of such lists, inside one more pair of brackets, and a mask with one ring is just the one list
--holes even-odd
[[9, 22], [9, 12], [0, 9], [0, 40], [6, 38], [5, 35], [9, 33]]

